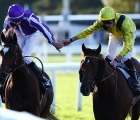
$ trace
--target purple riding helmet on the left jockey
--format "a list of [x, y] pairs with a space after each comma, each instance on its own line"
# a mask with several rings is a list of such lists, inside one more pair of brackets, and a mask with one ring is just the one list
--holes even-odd
[[24, 17], [24, 9], [19, 4], [13, 4], [8, 9], [8, 18], [10, 21], [18, 21]]

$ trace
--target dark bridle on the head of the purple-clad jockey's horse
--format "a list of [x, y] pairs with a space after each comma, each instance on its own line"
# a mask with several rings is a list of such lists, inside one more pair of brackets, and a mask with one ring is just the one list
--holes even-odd
[[[13, 44], [5, 44], [5, 45], [3, 45], [3, 48], [4, 47], [10, 47], [10, 46], [14, 47], [16, 49], [16, 51], [18, 51], [18, 46], [17, 45], [13, 45]], [[10, 66], [11, 67], [10, 70], [8, 71], [8, 73], [14, 72], [17, 69], [19, 69], [19, 68], [21, 68], [21, 67], [23, 67], [25, 65], [25, 63], [23, 63], [22, 65], [14, 68], [14, 66], [16, 65], [16, 62], [17, 62], [16, 59], [17, 59], [18, 52], [16, 52], [16, 53], [12, 53], [11, 52], [11, 54], [14, 56], [14, 60], [13, 60], [11, 65], [8, 65], [8, 64], [5, 64], [5, 63], [1, 63], [1, 67], [4, 67], [4, 66]]]

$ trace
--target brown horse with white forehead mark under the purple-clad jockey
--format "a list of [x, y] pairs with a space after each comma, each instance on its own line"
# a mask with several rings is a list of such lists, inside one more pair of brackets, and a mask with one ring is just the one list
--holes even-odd
[[[7, 35], [7, 36], [6, 36]], [[54, 98], [50, 77], [50, 88], [43, 95], [40, 90], [37, 75], [25, 64], [22, 51], [18, 45], [15, 33], [1, 33], [2, 49], [0, 57], [0, 82], [5, 83], [5, 106], [15, 111], [26, 111], [41, 118], [58, 120], [51, 111]], [[7, 82], [5, 79], [7, 78]]]

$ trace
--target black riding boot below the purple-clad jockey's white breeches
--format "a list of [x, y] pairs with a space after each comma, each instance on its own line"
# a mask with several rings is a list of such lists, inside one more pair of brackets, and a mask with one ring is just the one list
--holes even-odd
[[31, 62], [28, 66], [39, 78], [41, 90], [43, 93], [45, 93], [47, 91], [47, 88], [50, 87], [50, 81], [43, 76], [42, 71], [34, 62]]

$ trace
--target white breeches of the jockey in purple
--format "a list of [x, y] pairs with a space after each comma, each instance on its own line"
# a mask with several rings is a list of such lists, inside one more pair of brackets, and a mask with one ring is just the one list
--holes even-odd
[[[17, 34], [17, 40], [22, 50], [22, 56], [31, 56], [39, 34], [40, 34], [39, 31], [36, 31], [35, 33], [31, 35], [22, 35], [19, 33]], [[25, 57], [24, 61], [26, 62], [26, 64], [30, 64], [32, 62], [32, 58]]]

